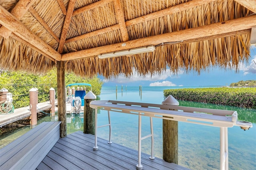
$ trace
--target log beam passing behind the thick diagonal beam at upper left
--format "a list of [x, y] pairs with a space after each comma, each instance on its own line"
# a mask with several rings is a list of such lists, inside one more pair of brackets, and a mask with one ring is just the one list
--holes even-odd
[[[18, 20], [21, 20], [23, 15], [28, 11], [28, 8], [34, 4], [35, 0], [19, 0], [18, 3], [11, 10], [11, 14], [14, 15]], [[1, 36], [4, 38], [8, 38], [12, 33], [5, 27], [0, 28]]]

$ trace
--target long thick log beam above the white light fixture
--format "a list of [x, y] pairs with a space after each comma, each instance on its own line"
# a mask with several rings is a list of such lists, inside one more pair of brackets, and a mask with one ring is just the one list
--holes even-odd
[[[86, 57], [94, 57], [101, 53], [108, 53], [114, 51], [120, 51], [125, 49], [131, 49], [136, 47], [143, 47], [147, 45], [158, 45], [161, 43], [180, 43], [182, 41], [195, 40], [198, 41], [211, 38], [216, 38], [217, 35], [229, 34], [231, 32], [238, 32], [242, 30], [247, 30], [255, 26], [256, 24], [251, 21], [256, 20], [256, 15], [246, 16], [243, 18], [237, 18], [234, 20], [229, 20], [225, 22], [219, 22], [215, 24], [200, 26], [196, 28], [190, 28], [186, 30], [180, 30], [176, 32], [160, 34], [157, 36], [151, 36], [146, 38], [141, 38], [137, 40], [130, 40], [124, 43], [116, 43], [112, 45], [105, 45], [102, 47], [95, 47], [91, 49], [84, 49], [81, 51], [75, 51], [71, 53], [62, 54], [62, 61], [68, 61], [72, 59], [81, 59]], [[221, 38], [219, 37], [219, 38]]]

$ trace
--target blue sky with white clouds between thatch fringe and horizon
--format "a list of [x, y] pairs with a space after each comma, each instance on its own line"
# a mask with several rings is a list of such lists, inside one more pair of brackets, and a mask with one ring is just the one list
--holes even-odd
[[248, 63], [240, 64], [238, 73], [235, 70], [211, 68], [209, 71], [202, 71], [200, 75], [197, 72], [186, 73], [184, 71], [180, 71], [177, 75], [167, 71], [161, 76], [133, 76], [129, 79], [119, 75], [116, 79], [102, 79], [103, 86], [225, 86], [240, 80], [256, 80], [256, 64], [254, 63], [256, 62], [256, 45], [251, 47], [251, 57]]

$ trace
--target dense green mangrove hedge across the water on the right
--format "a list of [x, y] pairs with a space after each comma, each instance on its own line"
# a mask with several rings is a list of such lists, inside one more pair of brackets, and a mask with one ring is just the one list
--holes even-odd
[[164, 96], [172, 95], [177, 100], [212, 103], [256, 109], [256, 88], [198, 88], [168, 89]]

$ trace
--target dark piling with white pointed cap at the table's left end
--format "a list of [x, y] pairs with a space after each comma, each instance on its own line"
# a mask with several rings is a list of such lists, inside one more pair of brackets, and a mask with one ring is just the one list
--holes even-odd
[[95, 112], [90, 108], [90, 102], [96, 99], [96, 95], [89, 91], [84, 96], [84, 133], [95, 134]]

